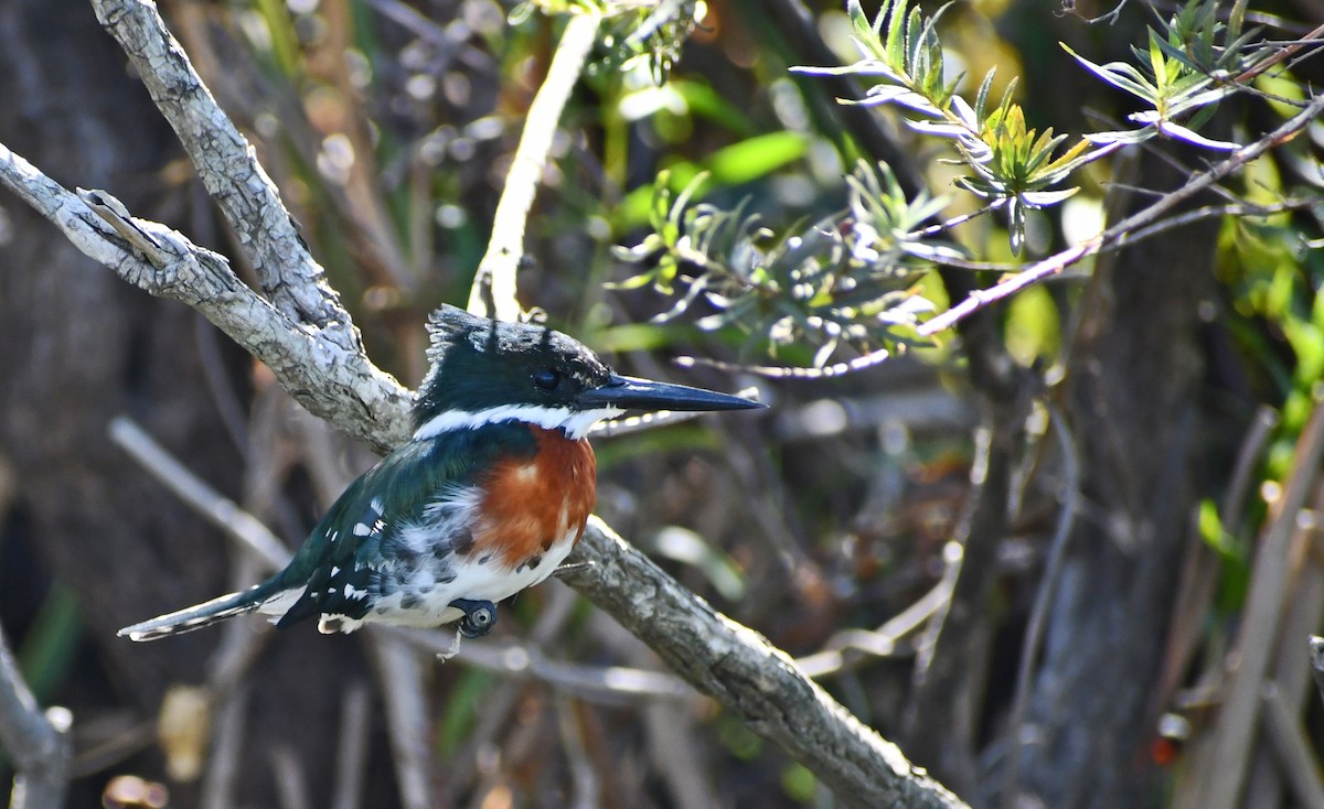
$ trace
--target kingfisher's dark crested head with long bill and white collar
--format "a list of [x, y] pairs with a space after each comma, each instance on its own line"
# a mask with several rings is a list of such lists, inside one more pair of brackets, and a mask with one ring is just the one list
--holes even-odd
[[428, 323], [432, 367], [414, 403], [414, 438], [519, 420], [583, 438], [625, 410], [744, 410], [756, 402], [616, 374], [577, 340], [445, 305]]

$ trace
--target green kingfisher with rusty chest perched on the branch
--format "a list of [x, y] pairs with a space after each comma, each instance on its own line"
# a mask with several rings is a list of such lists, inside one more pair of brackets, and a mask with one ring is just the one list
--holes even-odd
[[246, 612], [323, 633], [365, 623], [466, 637], [495, 603], [549, 576], [584, 533], [597, 492], [585, 436], [625, 410], [740, 410], [748, 399], [622, 377], [579, 341], [442, 307], [412, 439], [350, 484], [285, 570], [249, 590], [119, 631], [135, 641]]

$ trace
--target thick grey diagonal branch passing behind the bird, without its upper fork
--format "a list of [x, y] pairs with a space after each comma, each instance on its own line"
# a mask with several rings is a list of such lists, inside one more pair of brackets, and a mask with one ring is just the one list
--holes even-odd
[[[106, 223], [105, 217], [114, 217], [109, 206], [94, 212], [3, 145], [0, 182], [124, 280], [199, 309], [271, 366], [295, 399], [340, 430], [379, 448], [408, 436], [409, 397], [395, 379], [361, 354], [335, 354], [334, 346], [290, 323], [245, 287], [222, 256], [164, 226], [127, 219], [126, 230], [140, 231], [146, 250], [158, 254], [160, 264], [154, 264], [123, 230]], [[103, 200], [85, 196], [94, 204]], [[964, 805], [813, 685], [785, 654], [715, 613], [605, 525], [594, 522], [581, 546], [577, 559], [593, 564], [576, 572], [572, 586], [636, 632], [691, 685], [781, 744], [843, 800], [869, 806]]]

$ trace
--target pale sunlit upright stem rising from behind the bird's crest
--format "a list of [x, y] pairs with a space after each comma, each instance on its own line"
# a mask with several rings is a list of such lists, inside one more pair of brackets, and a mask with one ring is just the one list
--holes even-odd
[[469, 311], [496, 320], [515, 321], [520, 317], [515, 274], [524, 258], [524, 227], [534, 206], [534, 194], [543, 177], [552, 140], [557, 131], [561, 110], [569, 99], [584, 62], [593, 49], [601, 15], [584, 11], [571, 16], [565, 33], [556, 48], [547, 79], [539, 87], [528, 107], [527, 123], [515, 149], [515, 157], [506, 176], [506, 186], [496, 204], [493, 235], [487, 252], [478, 264]]

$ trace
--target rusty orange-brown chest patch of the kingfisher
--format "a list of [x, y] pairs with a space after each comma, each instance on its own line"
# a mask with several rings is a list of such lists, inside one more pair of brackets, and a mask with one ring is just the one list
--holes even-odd
[[579, 542], [597, 500], [597, 459], [585, 439], [530, 427], [532, 457], [498, 463], [485, 479], [474, 551], [518, 568], [556, 542]]

